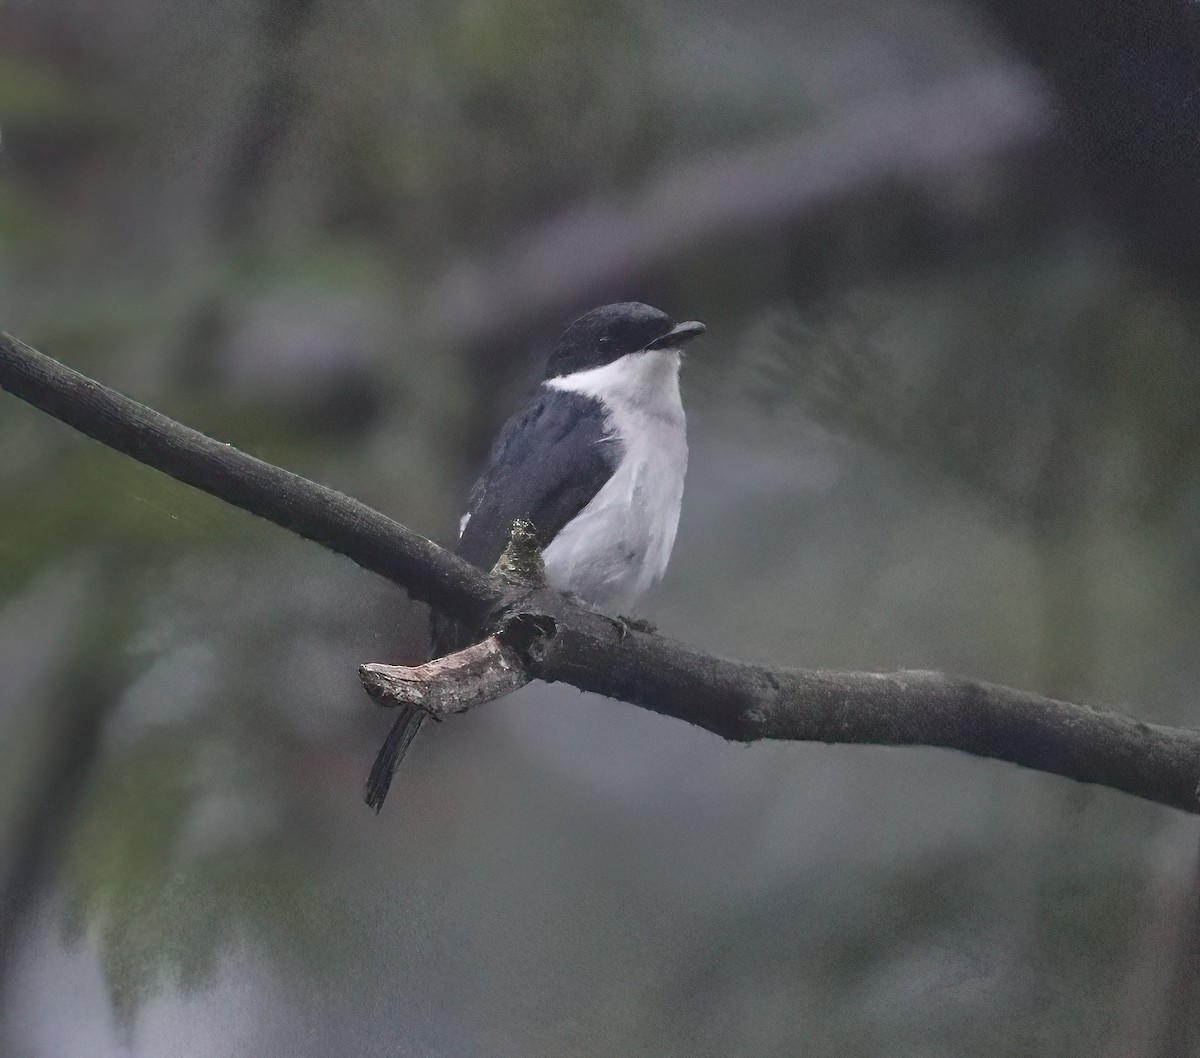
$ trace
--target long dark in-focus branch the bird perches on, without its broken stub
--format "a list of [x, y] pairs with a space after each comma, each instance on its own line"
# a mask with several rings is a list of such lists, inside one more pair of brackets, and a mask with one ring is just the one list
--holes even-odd
[[941, 673], [815, 672], [714, 657], [551, 589], [486, 576], [364, 504], [180, 426], [5, 335], [0, 387], [498, 635], [514, 679], [568, 683], [738, 741], [940, 746], [1200, 812], [1195, 731]]

